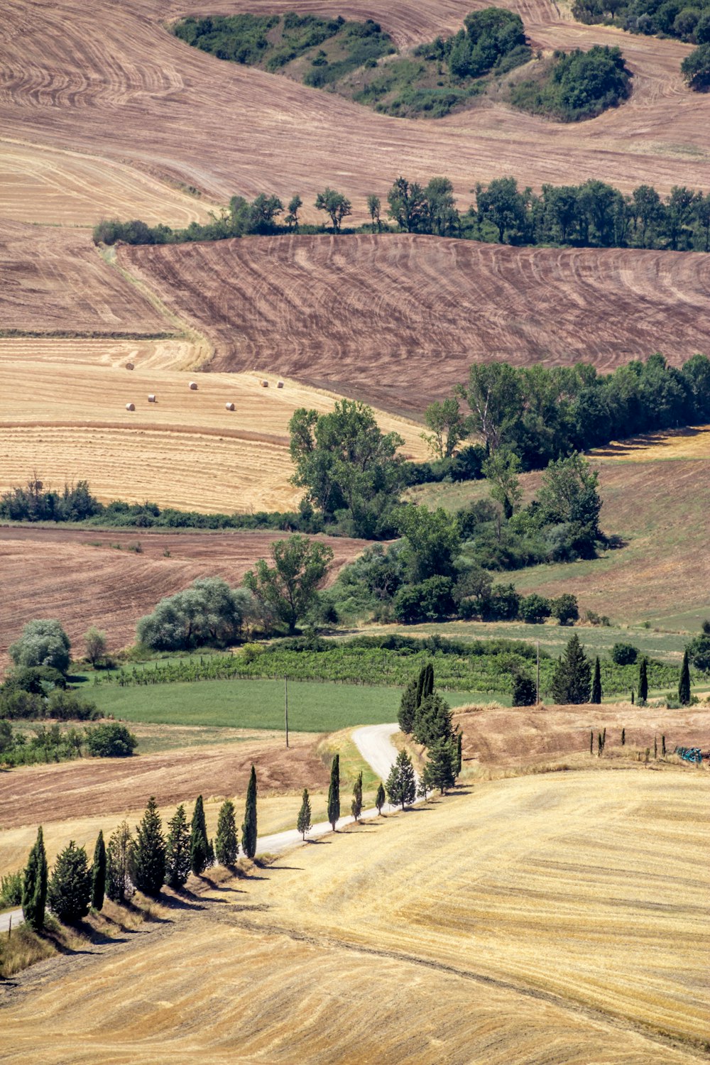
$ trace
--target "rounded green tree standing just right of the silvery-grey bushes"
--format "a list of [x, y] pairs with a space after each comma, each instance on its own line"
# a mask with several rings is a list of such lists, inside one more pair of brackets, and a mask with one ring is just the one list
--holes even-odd
[[260, 558], [255, 569], [245, 574], [244, 583], [290, 633], [295, 633], [298, 620], [317, 600], [333, 551], [328, 544], [296, 534], [287, 540], [276, 540], [270, 553], [274, 566]]

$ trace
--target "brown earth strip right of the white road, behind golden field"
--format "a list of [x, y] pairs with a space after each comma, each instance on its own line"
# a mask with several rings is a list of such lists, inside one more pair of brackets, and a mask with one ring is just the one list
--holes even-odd
[[[601, 706], [518, 706], [464, 707], [455, 710], [453, 723], [463, 733], [463, 765], [517, 769], [534, 767], [557, 759], [571, 759], [578, 768], [579, 758], [589, 758], [590, 732], [594, 732], [592, 768], [608, 765], [623, 756], [635, 759], [637, 752], [654, 751], [654, 737], [665, 736], [666, 752], [676, 747], [710, 749], [708, 707], [633, 706], [610, 703]], [[602, 763], [597, 759], [597, 735], [607, 730]], [[622, 728], [626, 743], [622, 747]]]

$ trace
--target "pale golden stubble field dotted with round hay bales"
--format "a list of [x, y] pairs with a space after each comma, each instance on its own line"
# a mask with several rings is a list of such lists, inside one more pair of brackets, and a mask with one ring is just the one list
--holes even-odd
[[[278, 388], [274, 374], [201, 374], [192, 391], [184, 373], [152, 368], [158, 354], [127, 371], [116, 361], [82, 363], [84, 341], [76, 362], [70, 341], [57, 344], [55, 361], [45, 359], [46, 348], [35, 358], [31, 342], [23, 343], [27, 356], [2, 365], [0, 492], [37, 471], [59, 488], [88, 480], [102, 502], [151, 499], [228, 513], [298, 506], [302, 490], [290, 482], [288, 421], [299, 407], [332, 410], [332, 393], [292, 380]], [[163, 349], [166, 358], [169, 353]], [[228, 403], [235, 410], [227, 410]], [[376, 413], [383, 431], [400, 432], [403, 454], [427, 457], [420, 425]]]

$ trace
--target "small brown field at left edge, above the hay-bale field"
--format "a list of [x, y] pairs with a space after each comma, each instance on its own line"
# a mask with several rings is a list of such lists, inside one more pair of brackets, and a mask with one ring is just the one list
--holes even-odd
[[3, 330], [174, 332], [137, 289], [105, 263], [86, 230], [0, 223]]

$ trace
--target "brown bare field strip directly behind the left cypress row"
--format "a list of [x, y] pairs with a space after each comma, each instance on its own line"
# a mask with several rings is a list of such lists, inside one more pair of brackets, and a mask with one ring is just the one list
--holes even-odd
[[252, 764], [261, 794], [327, 787], [316, 753], [320, 737], [265, 734], [238, 743], [188, 748], [132, 758], [82, 758], [0, 772], [2, 828], [66, 821], [138, 809], [153, 796], [159, 806], [187, 796], [244, 794]]

